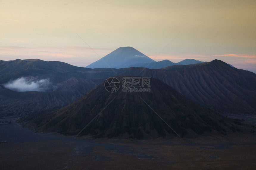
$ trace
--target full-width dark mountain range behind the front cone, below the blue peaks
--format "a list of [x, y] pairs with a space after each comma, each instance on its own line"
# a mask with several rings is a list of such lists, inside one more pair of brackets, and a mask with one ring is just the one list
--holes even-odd
[[[0, 61], [0, 67], [1, 117], [61, 108], [79, 99], [106, 78], [117, 75], [158, 78], [190, 100], [221, 114], [241, 116], [256, 112], [256, 74], [232, 68], [221, 60], [162, 69], [90, 69], [38, 59]], [[11, 92], [3, 88], [8, 81], [27, 76], [49, 78], [57, 88], [54, 92]]]

